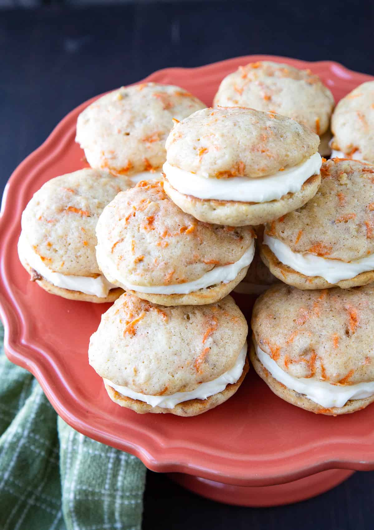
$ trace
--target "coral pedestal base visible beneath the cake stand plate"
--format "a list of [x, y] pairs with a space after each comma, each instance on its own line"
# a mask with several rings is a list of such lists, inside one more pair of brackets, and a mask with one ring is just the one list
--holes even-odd
[[169, 473], [168, 476], [183, 488], [202, 497], [226, 504], [255, 508], [280, 506], [316, 497], [348, 479], [353, 473], [352, 470], [332, 469], [286, 484], [262, 487], [224, 484], [184, 473]]

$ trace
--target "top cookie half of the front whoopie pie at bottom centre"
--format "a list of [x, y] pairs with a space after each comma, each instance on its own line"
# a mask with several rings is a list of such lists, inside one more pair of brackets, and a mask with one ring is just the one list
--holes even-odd
[[124, 293], [102, 315], [88, 357], [101, 377], [135, 392], [190, 392], [234, 366], [247, 331], [230, 296], [165, 307]]

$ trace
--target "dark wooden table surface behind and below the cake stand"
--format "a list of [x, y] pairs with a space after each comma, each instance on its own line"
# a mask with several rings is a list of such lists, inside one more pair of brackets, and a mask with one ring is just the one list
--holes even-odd
[[[0, 11], [1, 190], [76, 105], [159, 68], [274, 54], [374, 75], [373, 5], [211, 0]], [[297, 505], [239, 508], [149, 472], [144, 530], [372, 530], [373, 492], [374, 472], [360, 472]]]

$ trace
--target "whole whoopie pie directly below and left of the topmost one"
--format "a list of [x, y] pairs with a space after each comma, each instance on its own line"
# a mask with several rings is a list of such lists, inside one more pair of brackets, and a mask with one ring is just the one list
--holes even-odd
[[254, 254], [250, 226], [201, 223], [159, 181], [119, 193], [96, 227], [96, 258], [106, 278], [163, 305], [217, 302], [241, 281]]

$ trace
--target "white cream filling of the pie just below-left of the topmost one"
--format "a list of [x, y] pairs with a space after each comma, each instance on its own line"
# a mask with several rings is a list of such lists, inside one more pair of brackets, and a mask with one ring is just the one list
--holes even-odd
[[96, 246], [96, 257], [101, 269], [105, 270], [106, 275], [113, 281], [117, 280], [121, 282], [122, 285], [126, 286], [126, 289], [139, 291], [139, 293], [172, 295], [189, 294], [199, 289], [205, 289], [220, 283], [228, 284], [237, 277], [238, 273], [244, 269], [244, 267], [248, 267], [251, 264], [254, 256], [254, 249], [254, 240], [252, 240], [250, 248], [246, 250], [241, 259], [235, 263], [224, 265], [222, 267], [214, 267], [212, 270], [206, 272], [201, 278], [185, 282], [185, 284], [159, 286], [134, 285], [130, 284], [125, 278], [119, 278], [118, 270], [113, 261], [108, 258], [105, 252], [101, 251], [100, 245]]

